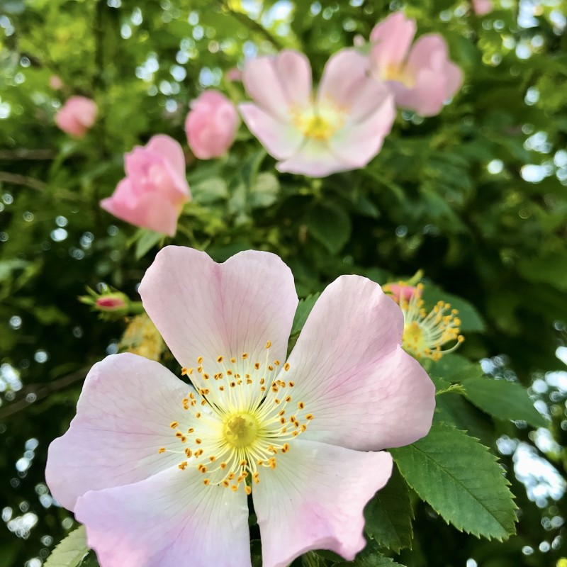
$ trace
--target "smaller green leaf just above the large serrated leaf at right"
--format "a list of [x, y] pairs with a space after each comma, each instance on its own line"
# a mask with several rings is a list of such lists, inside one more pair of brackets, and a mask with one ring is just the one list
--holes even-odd
[[465, 395], [483, 412], [498, 420], [523, 420], [533, 427], [545, 427], [546, 420], [534, 408], [527, 390], [517, 382], [470, 378], [464, 383]]

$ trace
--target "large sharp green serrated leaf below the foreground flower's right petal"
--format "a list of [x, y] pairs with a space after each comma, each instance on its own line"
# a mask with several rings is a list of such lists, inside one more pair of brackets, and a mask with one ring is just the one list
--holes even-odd
[[509, 483], [497, 458], [477, 439], [435, 424], [427, 437], [390, 452], [420, 498], [456, 529], [500, 540], [515, 533]]

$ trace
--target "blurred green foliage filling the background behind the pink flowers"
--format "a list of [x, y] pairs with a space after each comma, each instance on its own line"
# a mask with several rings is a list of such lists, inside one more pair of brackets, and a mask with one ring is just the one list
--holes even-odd
[[[74, 525], [47, 493], [47, 445], [67, 429], [86, 370], [116, 352], [125, 327], [97, 320], [77, 296], [106, 285], [137, 299], [137, 283], [163, 244], [99, 208], [123, 176], [123, 153], [155, 133], [186, 147], [189, 101], [210, 86], [243, 100], [242, 86], [225, 72], [246, 57], [293, 47], [308, 54], [318, 77], [329, 55], [357, 34], [368, 37], [399, 8], [416, 18], [419, 33], [447, 39], [466, 75], [454, 101], [434, 118], [400, 113], [368, 167], [322, 180], [276, 176], [274, 159], [244, 126], [223, 159], [198, 162], [187, 150], [193, 201], [166, 243], [206, 249], [217, 261], [242, 249], [271, 250], [293, 269], [301, 297], [340, 274], [386, 283], [424, 269], [430, 299], [458, 305], [466, 335], [459, 355], [429, 368], [444, 392], [436, 420], [500, 449], [520, 509], [518, 533], [500, 543], [458, 532], [401, 476], [395, 482], [405, 501], [400, 492], [383, 493], [367, 512], [383, 518], [393, 506], [415, 515], [412, 550], [395, 556], [410, 567], [464, 566], [468, 558], [482, 567], [549, 566], [566, 556], [562, 493], [538, 496], [512, 473], [520, 442], [563, 476], [567, 464], [566, 388], [549, 374], [565, 369], [556, 349], [567, 339], [566, 6], [502, 0], [480, 18], [454, 0], [5, 0], [0, 567], [38, 567]], [[52, 75], [62, 80], [60, 91], [50, 87]], [[82, 140], [53, 123], [72, 94], [90, 96], [101, 110]], [[299, 313], [294, 332], [304, 320]], [[534, 379], [549, 433], [530, 430], [544, 420], [515, 384]], [[462, 387], [451, 390], [451, 382]], [[515, 410], [498, 406], [502, 395]], [[408, 546], [407, 522], [378, 523], [369, 521], [371, 546]], [[366, 557], [357, 564], [395, 564]], [[303, 558], [310, 566], [321, 561], [332, 559]]]

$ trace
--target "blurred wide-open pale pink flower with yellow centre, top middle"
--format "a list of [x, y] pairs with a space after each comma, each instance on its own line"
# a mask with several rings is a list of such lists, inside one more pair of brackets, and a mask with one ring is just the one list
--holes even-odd
[[323, 177], [364, 167], [395, 118], [386, 85], [367, 77], [354, 50], [330, 58], [315, 96], [309, 61], [296, 51], [249, 61], [242, 80], [254, 101], [240, 105], [242, 118], [280, 172]]

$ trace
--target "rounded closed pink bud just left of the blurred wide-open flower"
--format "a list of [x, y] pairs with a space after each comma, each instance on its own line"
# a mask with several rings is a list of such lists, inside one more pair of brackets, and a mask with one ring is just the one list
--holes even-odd
[[225, 154], [235, 140], [237, 128], [236, 108], [220, 92], [205, 91], [191, 102], [185, 132], [189, 147], [199, 159]]

